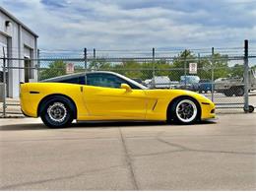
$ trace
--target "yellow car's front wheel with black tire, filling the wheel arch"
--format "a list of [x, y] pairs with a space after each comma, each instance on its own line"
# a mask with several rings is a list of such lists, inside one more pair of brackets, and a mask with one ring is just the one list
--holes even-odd
[[[184, 106], [182, 106], [182, 104]], [[192, 114], [191, 111], [188, 110], [193, 110]], [[167, 122], [193, 124], [200, 120], [200, 116], [201, 108], [195, 99], [191, 97], [180, 97], [175, 99], [168, 107]]]

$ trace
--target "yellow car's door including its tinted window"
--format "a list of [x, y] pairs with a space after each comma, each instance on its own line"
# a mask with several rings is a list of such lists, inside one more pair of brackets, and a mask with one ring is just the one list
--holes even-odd
[[83, 97], [90, 115], [110, 119], [145, 118], [144, 90], [135, 88], [127, 92], [121, 89], [121, 84], [129, 83], [113, 74], [89, 73], [86, 79]]

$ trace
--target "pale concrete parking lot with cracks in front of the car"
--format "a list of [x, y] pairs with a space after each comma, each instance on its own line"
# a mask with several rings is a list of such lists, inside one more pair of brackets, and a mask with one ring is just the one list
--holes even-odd
[[0, 119], [1, 190], [256, 190], [256, 113], [197, 125]]

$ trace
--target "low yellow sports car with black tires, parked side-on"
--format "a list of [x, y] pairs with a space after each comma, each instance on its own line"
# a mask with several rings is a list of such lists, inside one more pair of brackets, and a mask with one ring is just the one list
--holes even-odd
[[77, 120], [153, 120], [191, 124], [214, 118], [215, 104], [183, 90], [149, 90], [113, 72], [87, 72], [21, 84], [25, 115], [51, 128]]

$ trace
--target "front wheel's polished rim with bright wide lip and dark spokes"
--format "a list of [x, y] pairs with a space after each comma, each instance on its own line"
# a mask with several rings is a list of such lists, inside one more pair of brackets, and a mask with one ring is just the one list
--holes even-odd
[[184, 123], [193, 121], [197, 116], [197, 106], [190, 99], [182, 99], [176, 106], [176, 116]]

